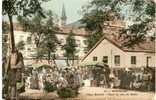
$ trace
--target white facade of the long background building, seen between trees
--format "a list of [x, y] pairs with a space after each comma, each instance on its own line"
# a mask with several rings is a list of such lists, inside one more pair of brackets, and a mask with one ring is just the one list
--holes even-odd
[[[17, 30], [17, 31], [14, 31], [14, 36], [15, 36], [15, 44], [17, 44], [20, 41], [25, 42], [25, 44], [26, 44], [25, 49], [21, 51], [25, 58], [30, 58], [31, 55], [35, 54], [35, 44], [33, 41], [34, 39], [32, 38], [31, 44], [27, 43], [27, 38], [31, 36], [31, 33]], [[63, 57], [64, 50], [62, 50], [61, 47], [62, 47], [62, 45], [64, 45], [66, 43], [67, 36], [68, 36], [68, 34], [56, 34], [56, 37], [58, 38], [58, 40], [63, 41], [61, 46], [57, 47], [56, 54], [58, 56]], [[84, 44], [84, 40], [86, 40], [86, 38], [84, 36], [78, 36], [78, 35], [75, 35], [74, 37], [76, 39], [76, 43], [79, 44], [77, 47], [77, 50], [79, 52], [76, 55], [78, 55], [80, 58], [82, 58], [85, 55], [84, 48], [86, 47], [86, 45]]]

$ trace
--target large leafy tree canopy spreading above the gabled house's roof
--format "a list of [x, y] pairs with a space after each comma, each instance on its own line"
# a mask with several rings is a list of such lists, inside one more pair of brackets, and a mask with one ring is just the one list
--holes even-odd
[[[123, 14], [123, 9], [128, 9], [131, 14]], [[153, 28], [155, 3], [152, 0], [91, 0], [83, 8], [83, 13], [81, 21], [86, 25], [85, 29], [89, 31], [87, 39], [89, 49], [99, 40], [100, 36], [96, 35], [105, 29], [105, 21], [124, 20], [127, 17], [133, 19], [129, 20], [133, 24], [122, 29], [119, 34], [120, 37], [123, 36], [127, 40], [124, 46], [132, 47], [144, 41], [148, 32]], [[94, 36], [95, 40], [92, 39]]]

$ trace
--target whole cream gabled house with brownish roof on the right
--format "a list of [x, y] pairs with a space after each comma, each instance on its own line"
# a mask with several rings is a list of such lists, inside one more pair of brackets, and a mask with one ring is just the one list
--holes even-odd
[[155, 67], [154, 44], [154, 41], [146, 41], [126, 48], [114, 38], [104, 36], [81, 60], [81, 65], [104, 62], [112, 68]]

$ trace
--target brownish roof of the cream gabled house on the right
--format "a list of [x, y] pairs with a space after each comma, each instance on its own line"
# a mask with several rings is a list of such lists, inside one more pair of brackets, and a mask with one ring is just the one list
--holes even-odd
[[122, 43], [116, 39], [111, 39], [108, 36], [103, 36], [86, 54], [82, 61], [104, 40], [108, 40], [110, 43], [118, 47], [124, 52], [146, 52], [146, 53], [155, 53], [155, 41], [144, 41], [139, 45], [135, 45], [133, 48], [123, 47]]

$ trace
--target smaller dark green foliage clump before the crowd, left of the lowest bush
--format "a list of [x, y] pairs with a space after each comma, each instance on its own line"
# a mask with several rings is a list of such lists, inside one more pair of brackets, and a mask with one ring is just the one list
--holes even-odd
[[46, 92], [54, 92], [57, 89], [55, 85], [52, 85], [51, 83], [45, 81], [44, 82], [44, 90]]

